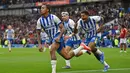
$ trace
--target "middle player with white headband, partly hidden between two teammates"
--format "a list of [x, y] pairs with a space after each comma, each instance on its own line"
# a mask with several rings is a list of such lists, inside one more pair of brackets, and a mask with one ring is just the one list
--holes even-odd
[[[81, 44], [81, 39], [79, 37], [78, 33], [74, 33], [74, 29], [75, 29], [75, 22], [69, 18], [69, 13], [68, 12], [62, 12], [62, 20], [63, 20], [63, 24], [64, 24], [64, 28], [66, 30], [66, 34], [65, 34], [65, 49], [67, 51], [67, 53], [69, 53], [70, 50], [76, 49], [80, 46]], [[83, 53], [89, 53], [89, 51], [87, 50], [81, 50], [76, 56], [80, 56]], [[66, 60], [66, 66], [63, 68], [69, 69], [70, 66], [70, 60]]]

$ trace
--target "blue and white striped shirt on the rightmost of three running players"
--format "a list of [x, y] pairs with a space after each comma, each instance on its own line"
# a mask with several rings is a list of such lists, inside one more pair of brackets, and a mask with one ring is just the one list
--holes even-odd
[[90, 18], [84, 22], [82, 19], [78, 21], [78, 28], [85, 32], [86, 38], [92, 38], [97, 35], [96, 31], [96, 20]]

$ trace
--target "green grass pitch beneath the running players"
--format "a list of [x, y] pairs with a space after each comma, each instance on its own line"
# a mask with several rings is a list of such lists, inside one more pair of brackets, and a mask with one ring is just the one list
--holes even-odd
[[[130, 73], [130, 49], [120, 53], [119, 48], [101, 48], [110, 65], [106, 73]], [[71, 69], [62, 69], [64, 59], [57, 54], [57, 73], [103, 73], [103, 65], [93, 55], [84, 54], [71, 59]], [[0, 48], [0, 73], [51, 73], [50, 54], [36, 48], [17, 48], [8, 52]]]

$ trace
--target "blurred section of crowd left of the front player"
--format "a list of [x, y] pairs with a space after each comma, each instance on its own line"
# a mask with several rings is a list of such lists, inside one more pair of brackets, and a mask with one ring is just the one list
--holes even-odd
[[11, 25], [15, 31], [14, 44], [21, 44], [21, 40], [26, 38], [28, 43], [34, 44], [35, 27], [37, 19], [28, 16], [1, 16], [0, 17], [0, 35], [4, 39], [4, 32], [8, 25]]

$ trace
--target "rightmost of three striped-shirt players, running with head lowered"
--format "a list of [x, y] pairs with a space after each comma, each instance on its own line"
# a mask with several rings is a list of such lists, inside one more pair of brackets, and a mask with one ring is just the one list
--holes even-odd
[[87, 45], [91, 48], [94, 56], [104, 64], [104, 71], [107, 71], [110, 66], [104, 61], [104, 53], [95, 46], [97, 36], [96, 22], [94, 18], [89, 17], [88, 11], [82, 11], [81, 19], [78, 21], [78, 28], [84, 31]]

